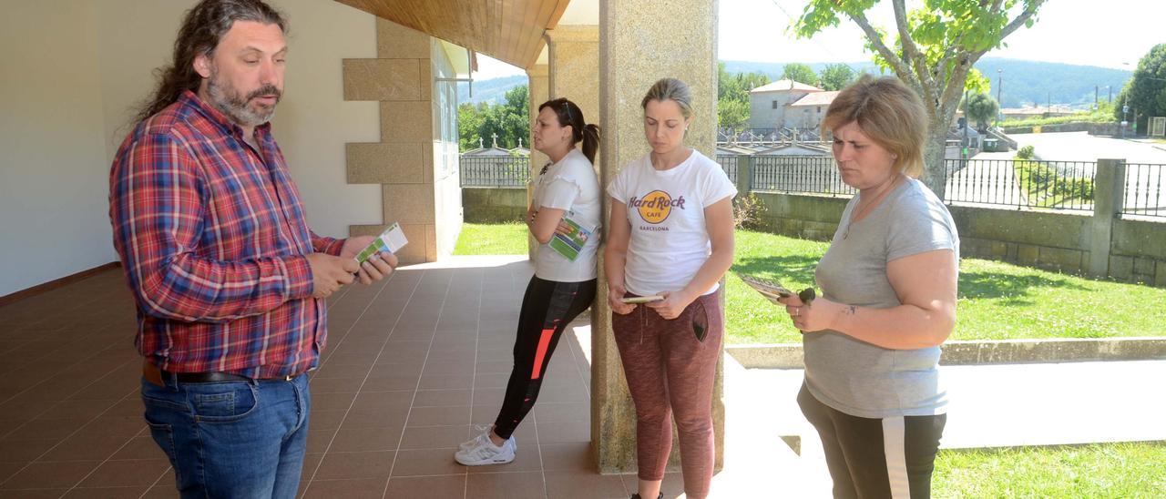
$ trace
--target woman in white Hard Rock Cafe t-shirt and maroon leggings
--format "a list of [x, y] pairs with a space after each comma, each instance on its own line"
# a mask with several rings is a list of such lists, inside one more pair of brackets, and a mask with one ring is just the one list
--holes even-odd
[[[712, 384], [724, 332], [719, 284], [732, 263], [732, 197], [721, 166], [684, 146], [693, 120], [688, 85], [665, 78], [641, 103], [652, 152], [607, 187], [604, 253], [611, 329], [635, 403], [639, 487], [658, 498], [675, 413], [684, 493], [712, 480]], [[645, 297], [662, 300], [628, 303]]]

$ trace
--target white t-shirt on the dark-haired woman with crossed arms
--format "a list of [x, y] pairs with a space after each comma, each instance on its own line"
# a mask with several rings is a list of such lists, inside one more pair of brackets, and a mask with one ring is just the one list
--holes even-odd
[[591, 230], [591, 238], [583, 245], [575, 261], [539, 245], [534, 254], [534, 275], [557, 282], [580, 282], [595, 279], [596, 248], [599, 247], [599, 180], [595, 167], [578, 148], [571, 148], [562, 160], [547, 168], [534, 182], [535, 209], [566, 210], [581, 226]]

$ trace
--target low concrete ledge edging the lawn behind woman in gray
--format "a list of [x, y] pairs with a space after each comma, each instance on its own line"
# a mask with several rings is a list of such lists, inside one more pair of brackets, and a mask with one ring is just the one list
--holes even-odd
[[[726, 345], [725, 352], [747, 368], [803, 368], [801, 344]], [[1166, 359], [1166, 338], [1072, 338], [948, 342], [940, 364], [1068, 363]]]

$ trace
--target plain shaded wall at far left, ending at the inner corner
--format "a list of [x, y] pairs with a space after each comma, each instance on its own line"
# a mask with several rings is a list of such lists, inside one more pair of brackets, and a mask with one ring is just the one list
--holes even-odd
[[0, 16], [0, 296], [114, 260], [96, 2]]

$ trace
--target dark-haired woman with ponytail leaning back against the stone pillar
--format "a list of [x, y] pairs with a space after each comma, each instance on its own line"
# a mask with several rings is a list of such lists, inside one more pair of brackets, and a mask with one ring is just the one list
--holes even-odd
[[[526, 213], [527, 227], [539, 241], [534, 276], [522, 297], [514, 368], [498, 417], [454, 455], [468, 466], [514, 461], [514, 430], [534, 407], [559, 338], [595, 300], [602, 197], [592, 163], [599, 147], [599, 127], [586, 125], [575, 103], [554, 99], [539, 106], [533, 132], [534, 148], [550, 157], [535, 180]], [[575, 147], [580, 142], [583, 150]], [[568, 258], [550, 247], [556, 232], [573, 233], [576, 225], [590, 232], [577, 255]]]

